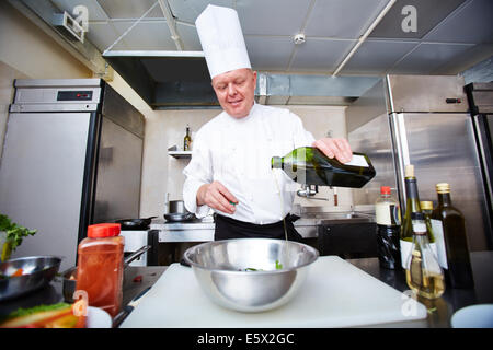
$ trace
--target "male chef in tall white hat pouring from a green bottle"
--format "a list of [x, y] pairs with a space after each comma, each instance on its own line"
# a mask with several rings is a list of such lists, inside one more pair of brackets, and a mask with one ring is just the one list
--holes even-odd
[[288, 109], [254, 101], [252, 71], [238, 14], [208, 5], [195, 22], [222, 113], [196, 133], [192, 160], [184, 168], [183, 199], [197, 218], [215, 211], [215, 240], [271, 237], [300, 241], [289, 212], [296, 183], [271, 168], [272, 156], [313, 145], [346, 163], [345, 139], [320, 139], [305, 130]]

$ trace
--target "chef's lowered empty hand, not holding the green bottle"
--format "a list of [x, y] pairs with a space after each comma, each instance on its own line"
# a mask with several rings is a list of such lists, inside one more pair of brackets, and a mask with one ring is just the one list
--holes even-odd
[[213, 182], [198, 188], [197, 205], [207, 205], [213, 209], [232, 214], [236, 210], [234, 206], [238, 205], [238, 199], [221, 183]]

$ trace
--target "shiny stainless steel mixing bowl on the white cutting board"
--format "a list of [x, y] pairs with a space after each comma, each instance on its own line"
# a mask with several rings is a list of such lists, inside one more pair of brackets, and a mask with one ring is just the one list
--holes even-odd
[[[319, 252], [306, 244], [270, 238], [207, 242], [184, 254], [198, 284], [213, 302], [249, 313], [290, 301], [318, 257]], [[276, 269], [276, 261], [282, 269]]]

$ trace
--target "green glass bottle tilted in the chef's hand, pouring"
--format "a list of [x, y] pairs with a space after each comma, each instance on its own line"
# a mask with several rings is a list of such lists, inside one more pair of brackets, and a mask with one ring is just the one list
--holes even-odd
[[376, 172], [366, 154], [353, 152], [348, 163], [330, 159], [319, 149], [301, 147], [285, 156], [273, 156], [272, 168], [282, 168], [293, 180], [319, 186], [360, 188]]

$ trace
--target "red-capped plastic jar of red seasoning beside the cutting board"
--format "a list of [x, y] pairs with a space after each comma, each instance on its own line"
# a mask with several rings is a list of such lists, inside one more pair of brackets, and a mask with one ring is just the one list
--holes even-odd
[[90, 225], [88, 237], [78, 248], [76, 291], [85, 292], [89, 306], [100, 307], [112, 317], [122, 306], [125, 237], [119, 231], [119, 223]]

